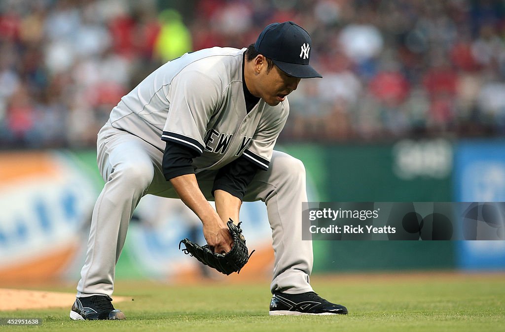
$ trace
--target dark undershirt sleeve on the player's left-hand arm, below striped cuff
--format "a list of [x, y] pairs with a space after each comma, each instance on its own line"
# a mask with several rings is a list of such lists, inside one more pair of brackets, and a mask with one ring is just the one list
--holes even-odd
[[165, 146], [162, 162], [165, 179], [169, 181], [181, 175], [194, 174], [192, 163], [193, 158], [197, 156], [198, 153], [195, 150], [185, 145], [168, 141]]

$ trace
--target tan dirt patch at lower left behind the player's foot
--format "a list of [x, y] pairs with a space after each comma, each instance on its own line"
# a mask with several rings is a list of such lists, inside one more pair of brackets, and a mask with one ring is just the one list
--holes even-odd
[[[0, 310], [23, 310], [70, 307], [75, 293], [57, 293], [0, 288]], [[126, 300], [114, 297], [114, 303]]]

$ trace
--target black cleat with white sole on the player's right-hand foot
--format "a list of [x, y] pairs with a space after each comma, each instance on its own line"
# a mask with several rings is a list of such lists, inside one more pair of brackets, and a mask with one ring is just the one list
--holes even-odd
[[347, 308], [333, 304], [314, 292], [286, 294], [274, 292], [270, 315], [346, 315]]

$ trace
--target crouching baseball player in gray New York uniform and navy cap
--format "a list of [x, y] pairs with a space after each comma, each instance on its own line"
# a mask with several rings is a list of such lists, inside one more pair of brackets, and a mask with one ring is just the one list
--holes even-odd
[[322, 77], [309, 65], [311, 45], [295, 23], [273, 23], [247, 48], [186, 53], [121, 98], [98, 133], [106, 184], [93, 210], [72, 319], [125, 318], [111, 303], [115, 264], [145, 194], [180, 198], [217, 253], [231, 250], [226, 222], [239, 221], [242, 201], [264, 201], [275, 251], [269, 313], [347, 313], [309, 284], [312, 242], [301, 240], [304, 165], [273, 149], [289, 113], [286, 96], [300, 79]]

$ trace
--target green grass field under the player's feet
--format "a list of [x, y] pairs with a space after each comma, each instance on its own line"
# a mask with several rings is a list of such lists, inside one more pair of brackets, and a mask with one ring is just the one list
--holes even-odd
[[[3, 311], [40, 317], [40, 331], [504, 331], [504, 274], [369, 274], [314, 276], [316, 292], [346, 305], [347, 316], [269, 316], [269, 282], [167, 285], [117, 282], [115, 306], [125, 321], [71, 321], [61, 309]], [[40, 288], [38, 288], [40, 289]], [[73, 287], [45, 288], [73, 292]]]

